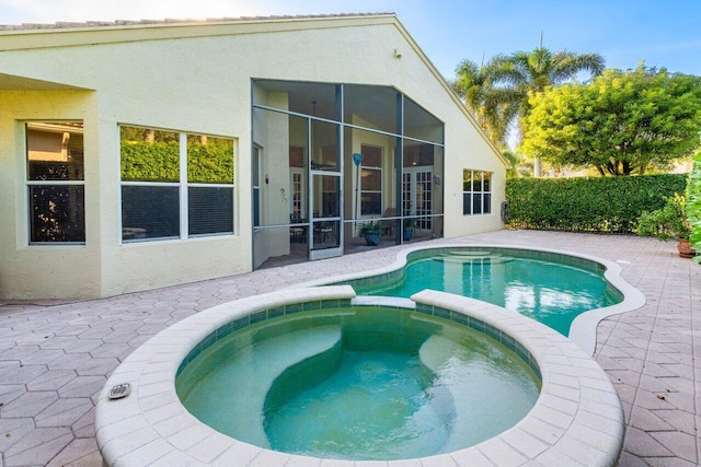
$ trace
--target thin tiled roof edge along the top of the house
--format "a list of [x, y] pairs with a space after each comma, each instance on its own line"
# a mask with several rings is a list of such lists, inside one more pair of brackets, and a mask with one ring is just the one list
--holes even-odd
[[119, 26], [148, 26], [148, 25], [205, 25], [246, 21], [279, 21], [279, 20], [314, 20], [334, 17], [357, 17], [357, 16], [382, 16], [394, 15], [394, 13], [338, 13], [338, 14], [298, 14], [298, 15], [272, 15], [272, 16], [238, 16], [238, 17], [208, 17], [205, 20], [115, 20], [115, 21], [87, 21], [87, 22], [56, 22], [56, 23], [22, 23], [22, 24], [0, 24], [0, 31], [33, 31], [33, 30], [76, 30], [94, 27], [119, 27]]

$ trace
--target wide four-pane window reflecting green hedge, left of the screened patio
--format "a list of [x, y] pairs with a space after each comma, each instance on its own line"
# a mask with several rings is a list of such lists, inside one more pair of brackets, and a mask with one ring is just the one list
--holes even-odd
[[233, 140], [120, 127], [122, 240], [233, 233]]

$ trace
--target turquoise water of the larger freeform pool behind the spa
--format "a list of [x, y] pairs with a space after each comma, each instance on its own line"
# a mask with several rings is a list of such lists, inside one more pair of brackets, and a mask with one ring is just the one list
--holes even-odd
[[577, 315], [622, 300], [593, 261], [513, 248], [422, 252], [402, 271], [344, 283], [358, 295], [409, 297], [433, 289], [470, 296], [519, 312], [564, 336]]

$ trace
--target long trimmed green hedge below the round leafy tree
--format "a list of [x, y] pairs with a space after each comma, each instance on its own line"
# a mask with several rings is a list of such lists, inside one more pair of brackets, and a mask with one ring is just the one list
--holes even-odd
[[632, 233], [643, 211], [683, 194], [686, 174], [586, 178], [508, 178], [507, 226]]

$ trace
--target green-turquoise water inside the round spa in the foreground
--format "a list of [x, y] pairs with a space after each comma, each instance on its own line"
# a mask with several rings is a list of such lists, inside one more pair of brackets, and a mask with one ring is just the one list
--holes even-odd
[[470, 327], [407, 310], [286, 315], [240, 329], [176, 378], [204, 423], [261, 447], [391, 460], [469, 447], [533, 407], [540, 380]]

